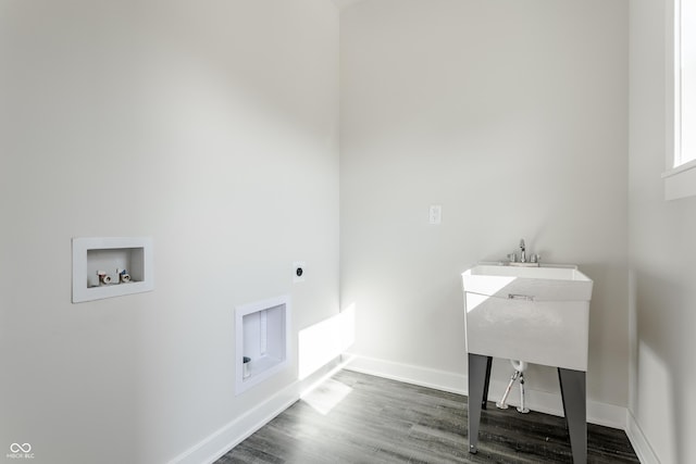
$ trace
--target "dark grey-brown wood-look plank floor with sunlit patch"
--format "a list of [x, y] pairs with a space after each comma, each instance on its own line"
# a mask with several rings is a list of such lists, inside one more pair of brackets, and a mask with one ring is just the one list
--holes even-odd
[[[341, 371], [216, 463], [570, 463], [566, 421], [483, 412], [468, 452], [467, 397]], [[591, 463], [638, 463], [622, 430], [587, 426]]]

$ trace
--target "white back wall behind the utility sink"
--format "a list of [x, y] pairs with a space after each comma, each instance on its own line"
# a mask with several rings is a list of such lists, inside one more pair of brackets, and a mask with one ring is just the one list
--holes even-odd
[[[356, 354], [463, 374], [460, 273], [524, 238], [594, 279], [588, 396], [626, 405], [627, 34], [624, 0], [343, 10], [340, 288]], [[529, 386], [559, 391], [550, 368]]]

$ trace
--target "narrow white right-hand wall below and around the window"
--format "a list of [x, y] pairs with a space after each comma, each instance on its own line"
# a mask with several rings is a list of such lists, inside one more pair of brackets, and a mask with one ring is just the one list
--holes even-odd
[[696, 198], [663, 200], [670, 0], [631, 2], [630, 410], [659, 462], [696, 460]]

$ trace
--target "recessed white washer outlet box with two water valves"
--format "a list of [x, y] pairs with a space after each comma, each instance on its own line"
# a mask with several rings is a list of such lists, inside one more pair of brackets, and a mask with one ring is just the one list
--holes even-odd
[[73, 303], [153, 288], [151, 238], [73, 238]]

